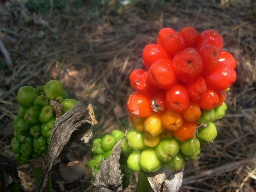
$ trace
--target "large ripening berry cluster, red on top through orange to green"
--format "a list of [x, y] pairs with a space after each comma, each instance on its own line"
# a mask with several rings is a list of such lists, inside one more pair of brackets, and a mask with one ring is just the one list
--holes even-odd
[[[236, 60], [222, 51], [216, 30], [162, 28], [156, 42], [143, 50], [146, 69], [130, 74], [136, 90], [127, 101], [133, 126], [122, 142], [128, 166], [133, 162], [131, 169], [148, 172], [163, 164], [179, 170], [184, 158], [198, 156], [200, 144], [214, 140], [214, 121], [224, 116], [226, 92], [236, 80]], [[150, 159], [158, 164], [150, 165]]]

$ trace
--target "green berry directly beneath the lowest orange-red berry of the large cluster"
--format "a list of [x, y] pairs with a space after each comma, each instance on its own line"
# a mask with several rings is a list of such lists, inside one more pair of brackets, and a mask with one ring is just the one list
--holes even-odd
[[180, 152], [186, 156], [194, 154], [198, 149], [200, 149], [198, 138], [187, 139], [185, 142], [180, 143]]

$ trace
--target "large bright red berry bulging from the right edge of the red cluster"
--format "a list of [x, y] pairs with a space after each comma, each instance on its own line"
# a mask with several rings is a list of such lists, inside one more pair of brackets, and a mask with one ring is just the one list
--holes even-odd
[[230, 66], [218, 63], [217, 67], [204, 77], [208, 87], [214, 90], [225, 90], [236, 80], [236, 72]]

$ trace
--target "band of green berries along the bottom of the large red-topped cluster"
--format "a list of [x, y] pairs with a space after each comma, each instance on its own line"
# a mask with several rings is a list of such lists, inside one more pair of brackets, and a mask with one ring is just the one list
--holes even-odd
[[201, 152], [201, 146], [212, 142], [217, 136], [214, 121], [225, 114], [226, 104], [212, 110], [203, 110], [198, 122], [198, 132], [193, 138], [179, 141], [172, 132], [152, 136], [132, 125], [122, 139], [122, 152], [128, 156], [128, 168], [134, 171], [155, 172], [167, 166], [171, 170], [181, 170], [185, 160], [194, 160]]

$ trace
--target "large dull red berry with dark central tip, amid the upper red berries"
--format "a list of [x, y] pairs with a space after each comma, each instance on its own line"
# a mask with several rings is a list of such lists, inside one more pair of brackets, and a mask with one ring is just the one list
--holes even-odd
[[174, 72], [183, 82], [192, 82], [203, 70], [201, 56], [194, 48], [178, 52], [172, 61]]

